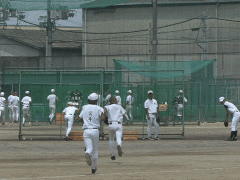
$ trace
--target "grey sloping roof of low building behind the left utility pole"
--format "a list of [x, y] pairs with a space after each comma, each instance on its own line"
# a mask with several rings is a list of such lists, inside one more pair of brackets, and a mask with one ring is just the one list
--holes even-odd
[[[0, 36], [21, 42], [37, 49], [46, 47], [45, 29], [0, 29]], [[81, 48], [81, 30], [53, 31], [53, 48]]]

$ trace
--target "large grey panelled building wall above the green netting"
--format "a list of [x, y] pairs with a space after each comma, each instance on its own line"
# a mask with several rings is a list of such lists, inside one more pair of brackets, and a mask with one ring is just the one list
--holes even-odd
[[[211, 18], [240, 20], [239, 4], [159, 5], [157, 60], [203, 59], [204, 35], [201, 19], [163, 27], [203, 15]], [[86, 17], [85, 17], [86, 15]], [[85, 21], [86, 20], [86, 21]], [[83, 66], [113, 69], [113, 59], [148, 60], [151, 54], [152, 21], [150, 6], [120, 6], [83, 10]], [[217, 59], [214, 74], [240, 77], [240, 23], [207, 19], [207, 59]], [[200, 28], [192, 31], [193, 28]], [[146, 30], [135, 33], [138, 30]], [[96, 34], [94, 34], [96, 33]], [[99, 34], [102, 33], [102, 34]], [[196, 43], [197, 42], [197, 43]], [[86, 48], [86, 49], [85, 49]]]

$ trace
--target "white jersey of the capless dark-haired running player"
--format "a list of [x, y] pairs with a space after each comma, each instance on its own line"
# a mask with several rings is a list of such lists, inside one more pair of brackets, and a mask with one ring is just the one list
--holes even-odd
[[123, 115], [126, 113], [125, 109], [118, 104], [111, 104], [105, 106], [108, 112], [108, 121], [109, 122], [122, 122]]

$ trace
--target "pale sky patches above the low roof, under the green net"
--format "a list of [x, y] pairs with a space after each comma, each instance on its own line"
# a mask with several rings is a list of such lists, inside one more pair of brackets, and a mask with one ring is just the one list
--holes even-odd
[[[39, 24], [39, 16], [46, 16], [47, 11], [27, 11], [25, 12], [25, 21]], [[6, 21], [7, 25], [16, 25], [17, 18], [10, 18], [10, 21]], [[29, 25], [22, 21], [19, 21], [19, 25]], [[58, 20], [56, 21], [57, 26], [71, 26], [71, 27], [82, 27], [82, 9], [76, 9], [73, 18], [68, 18], [68, 20]]]

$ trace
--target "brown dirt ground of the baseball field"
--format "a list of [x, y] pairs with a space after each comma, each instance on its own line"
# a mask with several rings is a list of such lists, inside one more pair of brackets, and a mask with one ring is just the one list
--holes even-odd
[[123, 157], [115, 161], [108, 141], [100, 141], [95, 175], [85, 161], [83, 141], [18, 141], [17, 135], [17, 124], [0, 127], [1, 180], [240, 178], [240, 141], [225, 141], [230, 127], [223, 123], [187, 125], [184, 139], [123, 141]]

